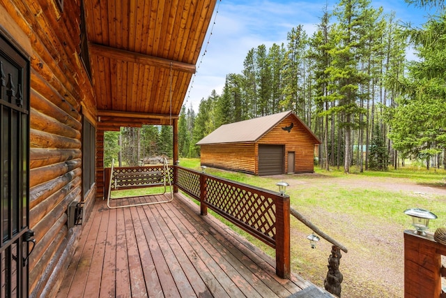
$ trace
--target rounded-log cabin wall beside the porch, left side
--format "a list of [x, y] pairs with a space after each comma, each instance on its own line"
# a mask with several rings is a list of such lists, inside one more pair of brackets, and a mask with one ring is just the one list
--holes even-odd
[[[0, 31], [31, 63], [29, 296], [59, 288], [82, 226], [67, 228], [67, 207], [83, 197], [82, 110], [95, 115], [93, 89], [80, 52], [80, 1], [0, 0]], [[82, 103], [82, 108], [81, 108]], [[95, 126], [95, 123], [93, 123]]]

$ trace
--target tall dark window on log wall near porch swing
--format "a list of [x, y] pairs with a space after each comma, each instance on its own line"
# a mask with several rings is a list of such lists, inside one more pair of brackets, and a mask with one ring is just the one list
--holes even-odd
[[84, 128], [82, 135], [82, 173], [84, 197], [95, 184], [95, 138], [96, 128], [86, 118], [84, 118]]

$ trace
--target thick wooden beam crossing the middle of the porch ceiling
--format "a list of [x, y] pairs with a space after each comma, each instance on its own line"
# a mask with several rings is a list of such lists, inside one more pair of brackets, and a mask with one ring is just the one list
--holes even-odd
[[116, 49], [116, 47], [107, 47], [105, 45], [98, 45], [97, 43], [89, 43], [89, 52], [90, 54], [94, 54], [96, 56], [102, 56], [121, 61], [144, 64], [147, 66], [172, 68], [172, 70], [181, 71], [183, 73], [195, 73], [196, 71], [196, 67], [194, 64], [187, 64], [180, 61], [153, 57], [137, 52], [120, 50]]

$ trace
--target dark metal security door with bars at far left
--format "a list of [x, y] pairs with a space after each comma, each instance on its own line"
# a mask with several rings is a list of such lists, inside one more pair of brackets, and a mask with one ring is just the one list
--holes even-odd
[[0, 70], [0, 297], [27, 297], [29, 61], [1, 34]]

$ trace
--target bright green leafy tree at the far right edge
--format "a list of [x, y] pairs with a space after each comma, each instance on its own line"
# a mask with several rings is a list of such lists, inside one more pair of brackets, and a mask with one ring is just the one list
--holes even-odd
[[395, 148], [424, 159], [429, 169], [433, 156], [446, 154], [446, 13], [407, 34], [420, 61], [413, 61], [408, 77], [398, 82], [405, 96], [387, 111], [392, 126], [389, 137]]

